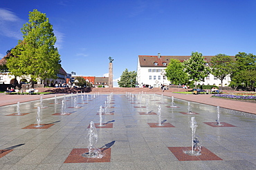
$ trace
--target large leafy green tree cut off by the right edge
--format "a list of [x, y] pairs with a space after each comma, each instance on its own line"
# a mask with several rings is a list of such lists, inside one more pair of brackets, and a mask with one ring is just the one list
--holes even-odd
[[235, 67], [231, 75], [231, 85], [245, 85], [250, 90], [256, 82], [256, 56], [239, 52], [235, 55]]

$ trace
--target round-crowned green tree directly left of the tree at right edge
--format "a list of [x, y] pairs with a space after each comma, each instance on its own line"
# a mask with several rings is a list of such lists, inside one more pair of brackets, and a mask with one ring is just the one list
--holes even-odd
[[226, 54], [217, 54], [212, 57], [210, 61], [212, 74], [221, 80], [221, 86], [224, 78], [232, 73], [233, 63], [232, 58]]

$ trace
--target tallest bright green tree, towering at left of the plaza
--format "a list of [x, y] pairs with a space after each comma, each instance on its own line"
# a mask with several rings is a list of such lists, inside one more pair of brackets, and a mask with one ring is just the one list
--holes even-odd
[[21, 28], [24, 39], [12, 49], [13, 56], [8, 59], [7, 67], [13, 75], [28, 76], [32, 82], [38, 78], [57, 78], [60, 54], [54, 47], [53, 25], [46, 14], [37, 10], [28, 16], [28, 23]]

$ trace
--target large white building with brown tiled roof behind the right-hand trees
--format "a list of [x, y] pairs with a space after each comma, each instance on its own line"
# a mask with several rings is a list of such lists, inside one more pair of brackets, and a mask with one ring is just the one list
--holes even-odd
[[[210, 63], [212, 56], [203, 56], [205, 61]], [[171, 82], [167, 80], [165, 76], [165, 69], [170, 63], [170, 59], [178, 59], [183, 62], [190, 59], [190, 56], [161, 56], [158, 53], [157, 56], [138, 56], [137, 65], [137, 82], [139, 87], [143, 85], [152, 85], [158, 87], [159, 85], [170, 85]], [[227, 76], [223, 80], [223, 86], [227, 86], [230, 83], [230, 76]], [[221, 81], [212, 74], [209, 74], [204, 81], [199, 82], [198, 85], [221, 85]]]

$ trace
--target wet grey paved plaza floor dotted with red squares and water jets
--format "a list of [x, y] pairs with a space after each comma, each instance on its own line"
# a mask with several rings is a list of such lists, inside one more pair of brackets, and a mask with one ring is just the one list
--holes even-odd
[[[3, 104], [0, 169], [256, 169], [256, 115], [250, 114], [255, 103], [207, 99], [211, 105], [205, 105], [206, 95], [179, 95], [67, 94], [65, 115], [60, 114], [63, 95], [57, 96], [57, 103], [54, 95], [44, 95], [42, 103], [34, 96], [20, 103], [19, 115], [17, 104]], [[176, 107], [171, 107], [171, 96]], [[103, 111], [101, 127], [98, 112], [108, 97], [109, 114]], [[41, 104], [44, 126], [35, 127]], [[221, 126], [216, 126], [217, 105]], [[235, 110], [228, 109], [233, 106]], [[201, 156], [184, 153], [192, 147], [192, 117]], [[91, 121], [103, 158], [82, 157]]]

